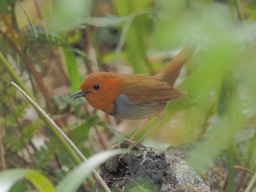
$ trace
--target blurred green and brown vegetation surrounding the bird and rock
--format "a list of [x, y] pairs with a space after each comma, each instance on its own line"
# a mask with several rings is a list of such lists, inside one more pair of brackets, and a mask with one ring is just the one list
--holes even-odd
[[[0, 1], [0, 189], [60, 191], [68, 181], [76, 185], [66, 190], [94, 191], [88, 167], [114, 153], [95, 154], [142, 122], [111, 118], [69, 96], [91, 72], [156, 74], [179, 48], [196, 42], [176, 83], [187, 96], [167, 105], [165, 120], [145, 142], [164, 150], [189, 146], [185, 158], [208, 180], [221, 160], [222, 180], [211, 188], [252, 191], [255, 20], [253, 0]], [[81, 164], [83, 157], [11, 81], [89, 161]]]

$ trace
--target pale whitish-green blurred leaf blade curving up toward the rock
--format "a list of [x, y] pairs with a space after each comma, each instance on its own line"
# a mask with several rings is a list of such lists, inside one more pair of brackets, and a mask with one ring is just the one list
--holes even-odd
[[120, 154], [121, 150], [108, 150], [97, 155], [93, 155], [88, 161], [83, 162], [73, 169], [63, 180], [56, 186], [56, 192], [72, 192], [76, 191], [83, 181], [91, 175], [91, 172], [96, 166], [113, 155]]

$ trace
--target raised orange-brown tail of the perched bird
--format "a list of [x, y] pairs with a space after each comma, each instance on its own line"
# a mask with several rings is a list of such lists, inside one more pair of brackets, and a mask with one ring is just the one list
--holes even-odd
[[178, 53], [178, 55], [176, 55], [176, 57], [173, 58], [173, 60], [170, 61], [170, 63], [154, 77], [173, 86], [181, 72], [182, 66], [187, 61], [189, 55], [192, 55], [195, 51], [196, 47], [197, 46], [195, 44], [189, 44], [184, 47], [181, 52]]

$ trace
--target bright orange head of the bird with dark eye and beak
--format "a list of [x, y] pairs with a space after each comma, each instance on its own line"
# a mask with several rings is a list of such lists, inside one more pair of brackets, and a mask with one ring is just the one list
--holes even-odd
[[80, 85], [80, 90], [72, 94], [71, 99], [86, 98], [92, 107], [111, 114], [114, 101], [120, 95], [118, 75], [108, 72], [89, 74]]

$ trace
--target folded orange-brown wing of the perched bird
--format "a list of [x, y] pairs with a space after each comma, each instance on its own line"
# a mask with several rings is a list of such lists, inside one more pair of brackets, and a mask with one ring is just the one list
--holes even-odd
[[[135, 76], [125, 83], [123, 90], [132, 104], [154, 105], [178, 99], [184, 93], [173, 88], [167, 82], [148, 76]], [[146, 83], [145, 83], [146, 82]]]

